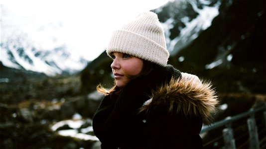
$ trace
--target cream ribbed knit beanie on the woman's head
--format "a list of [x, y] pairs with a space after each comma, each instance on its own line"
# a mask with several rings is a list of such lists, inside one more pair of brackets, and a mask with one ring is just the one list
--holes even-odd
[[151, 11], [140, 13], [133, 21], [116, 30], [106, 52], [110, 57], [112, 52], [121, 52], [166, 66], [169, 52], [157, 14]]

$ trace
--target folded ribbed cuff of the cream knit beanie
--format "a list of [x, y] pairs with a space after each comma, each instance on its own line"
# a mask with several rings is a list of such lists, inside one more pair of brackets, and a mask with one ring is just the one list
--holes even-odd
[[169, 57], [161, 45], [128, 30], [115, 31], [106, 52], [110, 57], [112, 52], [127, 53], [161, 66], [166, 66]]

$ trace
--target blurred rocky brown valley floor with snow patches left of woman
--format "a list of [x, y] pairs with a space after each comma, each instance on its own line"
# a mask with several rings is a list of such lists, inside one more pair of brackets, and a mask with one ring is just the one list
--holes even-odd
[[82, 94], [80, 86], [79, 75], [0, 82], [0, 148], [91, 149], [97, 145], [92, 117], [102, 96]]

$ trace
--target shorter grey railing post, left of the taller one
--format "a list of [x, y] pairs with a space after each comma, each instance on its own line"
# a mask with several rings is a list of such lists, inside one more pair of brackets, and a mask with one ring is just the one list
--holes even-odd
[[223, 136], [225, 142], [225, 149], [236, 149], [233, 130], [231, 128], [224, 129]]

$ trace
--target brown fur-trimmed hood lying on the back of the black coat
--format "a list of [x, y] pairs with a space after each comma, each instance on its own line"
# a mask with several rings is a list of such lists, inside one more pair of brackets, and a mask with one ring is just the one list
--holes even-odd
[[209, 124], [217, 104], [218, 98], [210, 82], [204, 82], [196, 75], [181, 73], [178, 79], [172, 78], [169, 83], [157, 88], [140, 111], [150, 112], [151, 109], [166, 105], [168, 112], [185, 116], [200, 115]]

